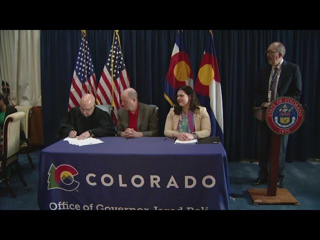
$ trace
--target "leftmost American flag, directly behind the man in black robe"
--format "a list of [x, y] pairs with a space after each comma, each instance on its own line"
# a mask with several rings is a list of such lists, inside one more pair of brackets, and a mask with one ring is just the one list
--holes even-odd
[[89, 52], [88, 42], [85, 36], [85, 30], [81, 30], [81, 42], [75, 67], [73, 71], [72, 83], [70, 87], [70, 96], [68, 109], [73, 106], [80, 105], [80, 99], [85, 93], [92, 93], [96, 96], [96, 80], [92, 63], [92, 58]]

